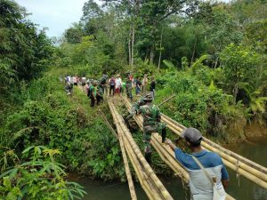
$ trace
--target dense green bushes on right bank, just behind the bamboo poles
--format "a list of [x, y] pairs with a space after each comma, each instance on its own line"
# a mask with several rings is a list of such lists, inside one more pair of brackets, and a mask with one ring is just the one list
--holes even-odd
[[238, 106], [231, 105], [231, 95], [214, 85], [212, 69], [201, 64], [200, 60], [193, 66], [195, 69], [172, 71], [158, 77], [158, 82], [164, 84], [158, 87], [157, 102], [175, 93], [175, 99], [162, 107], [164, 113], [185, 126], [224, 138], [228, 123], [245, 114]]

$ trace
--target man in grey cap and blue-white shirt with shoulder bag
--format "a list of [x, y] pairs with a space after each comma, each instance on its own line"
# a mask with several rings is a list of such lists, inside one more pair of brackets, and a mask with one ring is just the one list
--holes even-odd
[[201, 148], [202, 135], [197, 129], [187, 128], [182, 131], [181, 137], [192, 150], [192, 155], [182, 152], [171, 140], [167, 139], [166, 144], [174, 150], [175, 158], [189, 172], [191, 200], [213, 200], [214, 195], [218, 194], [220, 197], [216, 199], [225, 199], [224, 188], [228, 186], [229, 175], [222, 158]]

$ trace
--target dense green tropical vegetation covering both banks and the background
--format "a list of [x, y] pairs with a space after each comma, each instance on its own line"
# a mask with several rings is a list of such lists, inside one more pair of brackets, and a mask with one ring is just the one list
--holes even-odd
[[[88, 0], [55, 41], [25, 8], [1, 0], [0, 199], [84, 196], [67, 172], [125, 181], [116, 138], [83, 92], [66, 95], [66, 74], [154, 76], [157, 104], [176, 95], [161, 110], [220, 142], [243, 140], [250, 122], [266, 128], [266, 8], [263, 0]], [[108, 106], [100, 109], [112, 122]]]

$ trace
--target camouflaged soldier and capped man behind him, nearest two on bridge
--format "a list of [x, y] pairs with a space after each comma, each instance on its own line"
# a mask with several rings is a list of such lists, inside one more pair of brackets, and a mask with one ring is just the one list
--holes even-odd
[[176, 160], [189, 172], [191, 200], [224, 200], [229, 182], [229, 174], [220, 156], [201, 147], [202, 134], [195, 128], [186, 128], [181, 133], [184, 144], [190, 148], [192, 154], [187, 154], [174, 143], [166, 139], [166, 124], [160, 121], [160, 111], [152, 103], [149, 93], [134, 103], [132, 112], [125, 118], [127, 122], [134, 115], [142, 115], [144, 156], [151, 164], [151, 133], [160, 132], [162, 143], [173, 151]]

